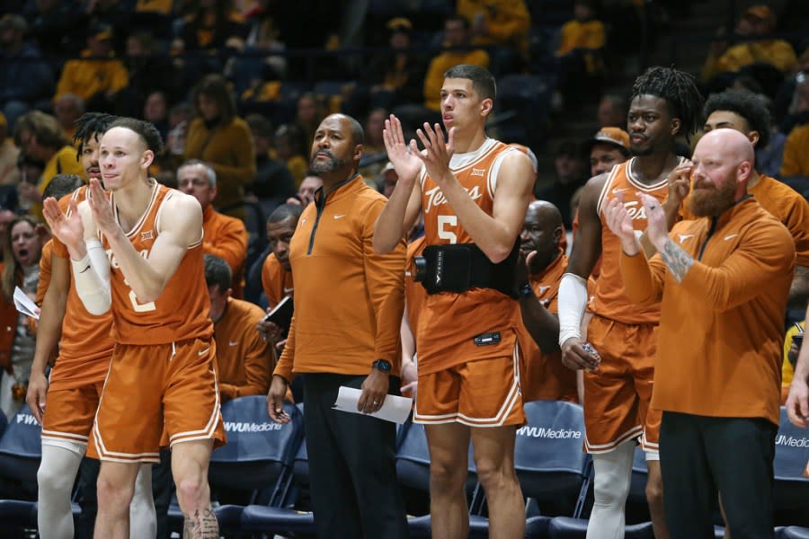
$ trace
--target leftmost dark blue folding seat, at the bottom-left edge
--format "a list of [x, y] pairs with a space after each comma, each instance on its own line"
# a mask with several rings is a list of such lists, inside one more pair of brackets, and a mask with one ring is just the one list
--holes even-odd
[[36, 526], [40, 434], [40, 424], [23, 404], [0, 437], [0, 498], [9, 498], [0, 499], [0, 532]]

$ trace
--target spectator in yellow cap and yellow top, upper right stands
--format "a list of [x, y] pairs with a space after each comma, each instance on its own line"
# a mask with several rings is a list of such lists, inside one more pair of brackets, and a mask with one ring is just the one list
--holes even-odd
[[[737, 73], [752, 64], [774, 66], [787, 73], [796, 63], [795, 50], [785, 40], [767, 39], [775, 31], [776, 16], [768, 5], [752, 5], [739, 19], [733, 31], [746, 40], [732, 47], [726, 41], [716, 41], [702, 68], [702, 79], [709, 82], [722, 73]], [[724, 33], [720, 30], [719, 35]]]

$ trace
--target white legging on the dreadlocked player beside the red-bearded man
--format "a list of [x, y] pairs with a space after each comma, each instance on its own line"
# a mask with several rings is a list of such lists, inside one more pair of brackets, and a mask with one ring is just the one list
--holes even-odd
[[592, 455], [595, 502], [587, 525], [587, 539], [623, 538], [635, 446], [635, 440], [629, 440], [609, 453]]

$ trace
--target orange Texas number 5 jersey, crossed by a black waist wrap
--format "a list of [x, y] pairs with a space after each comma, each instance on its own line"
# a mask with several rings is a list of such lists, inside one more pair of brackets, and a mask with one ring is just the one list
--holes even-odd
[[[487, 138], [474, 152], [453, 155], [449, 168], [469, 196], [488, 215], [492, 215], [497, 173], [511, 146]], [[474, 243], [458, 216], [444, 197], [440, 186], [425, 170], [422, 185], [422, 215], [427, 245]], [[515, 330], [520, 323], [520, 308], [509, 296], [492, 288], [470, 288], [463, 294], [441, 292], [427, 296], [419, 316], [416, 348], [419, 373], [429, 374], [476, 359], [502, 355], [496, 346], [476, 345], [474, 338], [483, 333]], [[508, 341], [501, 335], [503, 342]], [[511, 355], [508, 350], [508, 355]]]

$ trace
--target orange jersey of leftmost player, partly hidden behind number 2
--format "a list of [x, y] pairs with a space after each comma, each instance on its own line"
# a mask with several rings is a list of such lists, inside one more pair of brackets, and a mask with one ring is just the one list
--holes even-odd
[[[83, 186], [59, 200], [59, 208], [69, 213], [70, 199], [76, 204], [87, 198], [87, 187]], [[53, 254], [68, 260], [70, 285], [67, 289], [65, 318], [62, 321], [62, 337], [59, 340], [59, 355], [50, 373], [51, 389], [74, 389], [85, 384], [103, 382], [110, 367], [112, 349], [112, 314], [109, 312], [95, 316], [87, 312], [76, 292], [73, 280], [73, 265], [67, 247], [57, 237], [53, 237]]]

